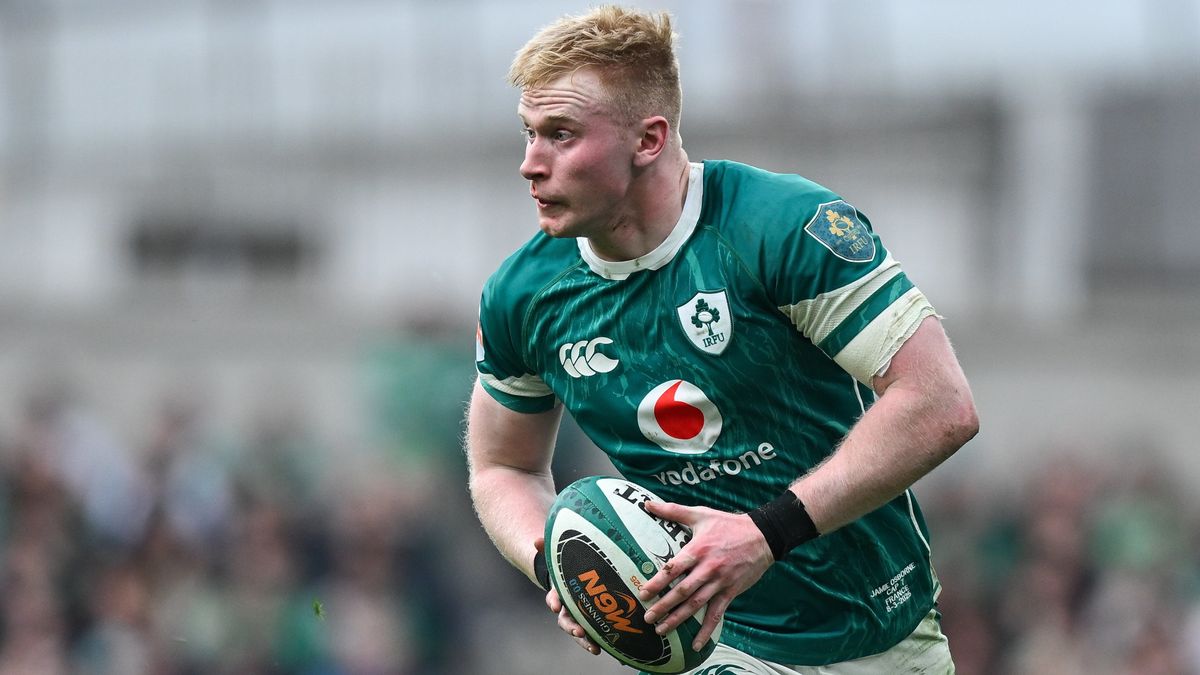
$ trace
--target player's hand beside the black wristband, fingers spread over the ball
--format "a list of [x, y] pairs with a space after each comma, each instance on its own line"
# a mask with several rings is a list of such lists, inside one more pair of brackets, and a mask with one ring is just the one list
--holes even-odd
[[762, 578], [775, 558], [762, 532], [744, 513], [656, 501], [646, 502], [646, 508], [653, 515], [691, 527], [692, 533], [688, 545], [642, 586], [644, 601], [678, 580], [649, 607], [646, 620], [658, 622], [655, 631], [665, 634], [707, 604], [703, 626], [692, 644], [698, 649], [712, 637], [733, 598]]

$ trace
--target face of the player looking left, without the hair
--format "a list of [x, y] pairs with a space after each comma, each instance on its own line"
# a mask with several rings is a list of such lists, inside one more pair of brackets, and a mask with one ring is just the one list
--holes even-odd
[[626, 215], [637, 137], [612, 112], [599, 76], [576, 71], [527, 89], [521, 175], [538, 204], [538, 225], [551, 237], [594, 237]]

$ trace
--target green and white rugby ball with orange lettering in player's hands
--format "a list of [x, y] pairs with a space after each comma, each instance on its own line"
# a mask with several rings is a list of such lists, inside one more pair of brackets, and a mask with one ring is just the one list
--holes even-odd
[[546, 568], [568, 611], [600, 649], [647, 673], [683, 673], [713, 653], [721, 627], [695, 651], [703, 608], [666, 635], [646, 622], [658, 597], [643, 603], [638, 590], [691, 539], [689, 527], [647, 513], [650, 500], [662, 501], [619, 478], [571, 483], [546, 519]]

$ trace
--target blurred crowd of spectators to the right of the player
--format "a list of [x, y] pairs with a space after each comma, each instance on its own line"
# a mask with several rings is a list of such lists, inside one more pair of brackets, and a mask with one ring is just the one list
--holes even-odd
[[922, 495], [960, 673], [1200, 674], [1198, 495], [1146, 448], [1116, 449], [1049, 453], [1016, 489], [973, 476]]

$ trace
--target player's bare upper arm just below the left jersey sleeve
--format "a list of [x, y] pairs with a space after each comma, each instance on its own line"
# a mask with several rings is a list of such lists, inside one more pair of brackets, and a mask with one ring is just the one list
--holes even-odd
[[562, 417], [562, 406], [534, 413], [510, 410], [476, 381], [467, 414], [472, 473], [494, 467], [548, 473]]

